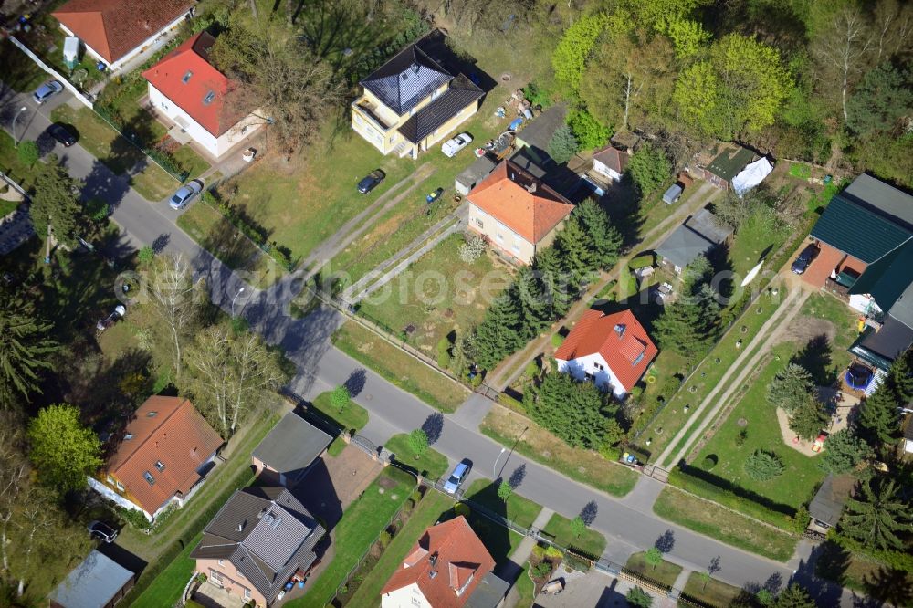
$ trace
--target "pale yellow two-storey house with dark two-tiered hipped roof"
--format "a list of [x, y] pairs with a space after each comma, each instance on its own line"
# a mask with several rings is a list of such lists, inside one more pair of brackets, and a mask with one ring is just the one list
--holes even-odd
[[431, 58], [429, 39], [405, 47], [359, 83], [352, 129], [383, 154], [416, 159], [478, 110], [482, 89]]

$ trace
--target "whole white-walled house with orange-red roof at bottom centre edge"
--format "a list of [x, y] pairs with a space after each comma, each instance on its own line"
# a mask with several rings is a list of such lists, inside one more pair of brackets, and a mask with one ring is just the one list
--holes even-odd
[[382, 608], [497, 608], [509, 583], [462, 515], [426, 529], [381, 591]]

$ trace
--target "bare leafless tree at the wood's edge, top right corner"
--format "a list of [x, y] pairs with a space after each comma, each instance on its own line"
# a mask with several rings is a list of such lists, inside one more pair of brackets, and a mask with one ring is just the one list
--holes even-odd
[[847, 5], [836, 12], [822, 28], [813, 46], [813, 54], [821, 69], [823, 82], [835, 81], [839, 86], [840, 105], [846, 121], [846, 97], [856, 77], [868, 65], [873, 46], [872, 31], [854, 6]]

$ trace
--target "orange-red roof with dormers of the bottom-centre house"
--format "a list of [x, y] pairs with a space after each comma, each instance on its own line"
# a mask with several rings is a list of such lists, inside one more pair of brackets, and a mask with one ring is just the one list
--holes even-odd
[[[433, 567], [434, 555], [437, 561]], [[435, 608], [459, 608], [494, 567], [494, 559], [461, 515], [426, 529], [381, 594], [415, 583]], [[432, 571], [436, 572], [434, 578], [429, 575]], [[463, 592], [457, 595], [460, 589]]]

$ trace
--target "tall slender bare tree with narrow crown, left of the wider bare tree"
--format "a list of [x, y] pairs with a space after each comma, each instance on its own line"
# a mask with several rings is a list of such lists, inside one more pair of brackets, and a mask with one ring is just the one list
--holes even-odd
[[155, 315], [168, 327], [172, 337], [174, 379], [180, 382], [181, 345], [199, 322], [200, 282], [184, 256], [163, 256], [157, 260], [148, 282], [149, 303]]

